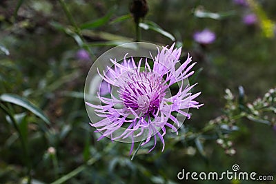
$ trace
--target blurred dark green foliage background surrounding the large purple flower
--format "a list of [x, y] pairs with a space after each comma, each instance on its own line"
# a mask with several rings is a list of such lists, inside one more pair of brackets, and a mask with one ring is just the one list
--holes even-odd
[[[178, 136], [166, 135], [164, 152], [141, 147], [131, 161], [130, 145], [96, 141], [83, 103], [92, 62], [137, 36], [129, 1], [0, 1], [0, 183], [171, 184], [184, 182], [182, 168], [225, 172], [234, 163], [276, 178], [276, 3], [248, 3], [148, 1], [141, 41], [175, 41], [181, 59], [189, 52], [205, 105]], [[255, 25], [242, 22], [249, 12]], [[193, 41], [204, 28], [217, 35], [212, 45]], [[90, 61], [76, 57], [80, 48]]]

